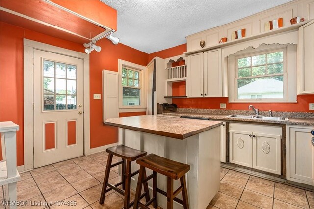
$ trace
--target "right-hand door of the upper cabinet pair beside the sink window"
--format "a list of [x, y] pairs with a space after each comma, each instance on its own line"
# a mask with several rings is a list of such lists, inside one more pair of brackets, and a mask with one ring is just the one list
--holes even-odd
[[222, 97], [221, 48], [204, 52], [204, 97]]

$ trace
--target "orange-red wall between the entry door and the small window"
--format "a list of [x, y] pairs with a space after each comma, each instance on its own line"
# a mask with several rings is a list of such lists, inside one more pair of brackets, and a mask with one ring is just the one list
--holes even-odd
[[115, 143], [118, 129], [103, 125], [102, 100], [94, 100], [93, 94], [102, 93], [102, 70], [118, 71], [118, 59], [146, 66], [148, 54], [123, 44], [113, 45], [104, 38], [97, 42], [101, 52], [92, 52], [90, 56], [90, 147], [99, 147]]

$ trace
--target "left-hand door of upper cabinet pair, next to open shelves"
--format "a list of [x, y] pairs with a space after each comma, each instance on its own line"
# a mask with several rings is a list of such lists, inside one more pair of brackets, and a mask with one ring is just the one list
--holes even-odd
[[188, 57], [188, 83], [190, 97], [203, 97], [203, 52]]

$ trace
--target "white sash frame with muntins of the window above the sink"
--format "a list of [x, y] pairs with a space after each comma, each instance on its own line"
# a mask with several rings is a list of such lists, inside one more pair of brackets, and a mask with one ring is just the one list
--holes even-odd
[[[267, 54], [274, 53], [274, 52], [283, 52], [283, 73], [279, 74], [265, 74], [265, 75], [258, 75], [258, 76], [249, 76], [249, 77], [238, 77], [238, 60], [245, 57], [253, 57], [256, 55], [263, 55], [266, 54], [266, 69], [267, 69]], [[271, 63], [272, 64], [272, 63]], [[274, 63], [276, 64], [276, 63]], [[261, 66], [261, 65], [259, 65]], [[252, 60], [250, 64], [250, 68], [252, 68]], [[238, 99], [238, 86], [237, 81], [238, 79], [244, 78], [263, 78], [263, 77], [270, 77], [270, 76], [283, 76], [283, 98], [246, 98], [246, 99]], [[259, 50], [257, 52], [249, 52], [235, 56], [235, 102], [286, 102], [287, 101], [287, 49], [286, 47], [279, 47], [275, 49], [267, 49], [267, 50]]]

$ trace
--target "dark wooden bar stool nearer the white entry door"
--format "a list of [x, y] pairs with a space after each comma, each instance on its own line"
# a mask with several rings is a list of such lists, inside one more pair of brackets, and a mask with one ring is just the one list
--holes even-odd
[[[103, 189], [102, 189], [99, 203], [103, 204], [105, 201], [106, 193], [110, 191], [111, 189], [113, 189], [117, 191], [118, 193], [124, 195], [124, 208], [129, 209], [134, 204], [134, 201], [130, 203], [131, 177], [139, 173], [139, 170], [131, 173], [131, 163], [132, 161], [135, 161], [139, 157], [146, 156], [147, 152], [136, 150], [131, 147], [124, 146], [124, 145], [117, 145], [117, 146], [109, 147], [106, 149], [106, 152], [108, 153], [108, 160], [107, 160], [107, 166], [105, 170]], [[122, 160], [117, 163], [111, 164], [113, 156], [121, 157]], [[121, 175], [122, 181], [115, 185], [108, 183], [110, 169], [120, 164], [122, 164], [122, 175]], [[122, 184], [122, 189], [117, 187], [121, 184]], [[109, 187], [108, 189], [107, 189], [107, 186]], [[142, 195], [140, 195], [140, 199], [145, 196], [146, 201], [149, 201], [150, 197], [149, 197], [149, 190], [148, 190], [147, 183], [144, 184], [144, 191], [145, 192]]]

